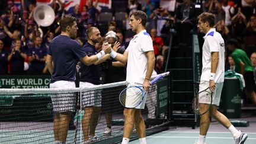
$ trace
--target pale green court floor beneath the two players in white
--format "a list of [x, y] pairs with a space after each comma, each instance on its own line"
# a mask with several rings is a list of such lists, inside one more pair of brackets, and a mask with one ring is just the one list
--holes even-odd
[[[248, 138], [244, 144], [255, 144], [256, 143], [256, 114], [245, 113], [242, 114], [240, 119], [229, 119], [229, 120], [246, 120], [249, 121], [247, 127], [236, 127], [238, 130], [242, 130], [248, 134]], [[149, 144], [155, 143], [173, 143], [173, 144], [193, 144], [196, 142], [199, 136], [199, 127], [191, 129], [191, 127], [169, 127], [169, 130], [156, 133], [151, 136], [147, 136], [146, 140]], [[134, 140], [129, 144], [139, 143], [139, 140]], [[229, 133], [229, 130], [219, 124], [216, 120], [212, 120], [206, 136], [207, 144], [234, 144], [233, 136]]]

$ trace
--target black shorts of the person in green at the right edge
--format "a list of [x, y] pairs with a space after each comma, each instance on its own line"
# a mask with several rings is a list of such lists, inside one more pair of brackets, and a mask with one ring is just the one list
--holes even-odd
[[245, 72], [244, 73], [244, 80], [245, 80], [245, 90], [248, 92], [254, 91], [256, 92], [256, 85], [254, 81], [254, 74], [253, 72]]

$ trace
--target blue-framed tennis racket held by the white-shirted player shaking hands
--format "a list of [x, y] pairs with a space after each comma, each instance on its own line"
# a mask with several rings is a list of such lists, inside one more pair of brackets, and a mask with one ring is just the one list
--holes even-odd
[[[158, 81], [158, 79], [162, 78], [162, 75], [157, 76], [155, 79], [151, 81], [151, 84]], [[142, 103], [145, 97], [145, 91], [142, 85], [139, 86], [131, 86], [123, 89], [123, 91], [119, 94], [119, 101], [121, 105], [126, 108], [135, 108], [140, 103]]]

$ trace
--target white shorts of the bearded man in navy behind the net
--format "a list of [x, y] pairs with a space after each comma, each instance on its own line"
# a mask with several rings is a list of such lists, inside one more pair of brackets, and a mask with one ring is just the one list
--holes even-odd
[[[94, 86], [89, 82], [79, 82], [80, 88]], [[101, 107], [101, 89], [82, 92], [82, 108]]]

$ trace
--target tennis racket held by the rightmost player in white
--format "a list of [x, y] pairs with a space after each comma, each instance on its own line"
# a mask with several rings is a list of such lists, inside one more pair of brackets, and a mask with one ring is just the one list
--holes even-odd
[[[219, 74], [215, 78], [215, 83], [216, 81], [220, 78], [220, 75], [222, 75], [222, 71], [219, 72]], [[210, 109], [210, 106], [212, 105], [212, 94], [213, 92], [210, 90], [210, 88], [206, 88], [203, 91], [198, 92], [196, 96], [193, 98], [192, 101], [192, 110], [194, 111], [195, 114], [205, 114], [207, 111]], [[204, 104], [200, 105], [199, 104], [199, 97], [201, 100], [204, 101]]]

